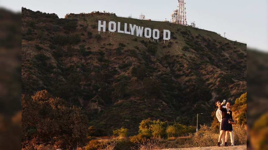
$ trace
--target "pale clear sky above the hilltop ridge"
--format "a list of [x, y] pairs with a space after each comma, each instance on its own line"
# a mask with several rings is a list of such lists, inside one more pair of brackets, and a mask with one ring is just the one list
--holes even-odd
[[[267, 0], [184, 0], [187, 24], [220, 33], [225, 37], [246, 42], [248, 48], [268, 52]], [[118, 16], [171, 20], [177, 0], [2, 0], [1, 7], [14, 12], [25, 7], [32, 11], [55, 13], [60, 18], [68, 13], [106, 11]]]

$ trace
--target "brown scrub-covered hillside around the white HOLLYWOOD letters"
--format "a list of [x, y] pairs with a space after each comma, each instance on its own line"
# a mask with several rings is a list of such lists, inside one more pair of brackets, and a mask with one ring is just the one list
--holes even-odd
[[[160, 38], [109, 32], [109, 21], [158, 29]], [[81, 106], [103, 135], [121, 127], [133, 135], [149, 117], [195, 125], [200, 112], [198, 124], [210, 125], [216, 99], [234, 103], [246, 92], [246, 44], [169, 22], [22, 8], [22, 94], [44, 89]]]

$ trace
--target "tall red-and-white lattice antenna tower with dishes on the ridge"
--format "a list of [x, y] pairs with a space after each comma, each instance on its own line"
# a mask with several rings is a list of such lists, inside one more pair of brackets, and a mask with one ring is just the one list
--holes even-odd
[[184, 0], [178, 0], [178, 2], [178, 8], [171, 14], [171, 21], [172, 23], [187, 25], [185, 7], [186, 3], [184, 3]]

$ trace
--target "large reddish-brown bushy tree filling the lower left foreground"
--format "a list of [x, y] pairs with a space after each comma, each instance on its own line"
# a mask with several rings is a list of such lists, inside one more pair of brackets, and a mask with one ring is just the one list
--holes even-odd
[[61, 98], [54, 98], [46, 90], [33, 96], [22, 95], [22, 148], [37, 149], [43, 144], [54, 148], [76, 147], [84, 144], [87, 116]]

